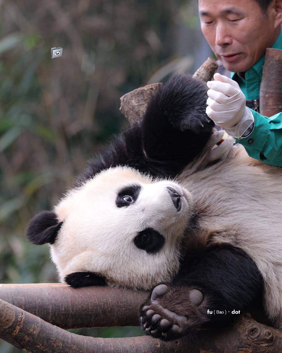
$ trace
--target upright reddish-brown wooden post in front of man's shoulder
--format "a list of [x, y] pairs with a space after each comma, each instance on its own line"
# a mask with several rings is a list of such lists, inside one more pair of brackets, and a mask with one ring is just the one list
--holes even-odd
[[282, 50], [267, 48], [259, 93], [259, 112], [272, 116], [282, 112]]

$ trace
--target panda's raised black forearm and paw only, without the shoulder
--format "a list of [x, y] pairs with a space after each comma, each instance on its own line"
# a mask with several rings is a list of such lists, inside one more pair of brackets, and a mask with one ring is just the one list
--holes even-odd
[[206, 84], [188, 75], [174, 76], [160, 88], [142, 122], [147, 157], [180, 172], [199, 155], [214, 127], [206, 101]]

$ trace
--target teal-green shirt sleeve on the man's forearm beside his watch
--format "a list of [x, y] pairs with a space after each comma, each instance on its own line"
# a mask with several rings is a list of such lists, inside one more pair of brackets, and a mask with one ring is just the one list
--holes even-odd
[[[249, 109], [249, 108], [248, 108]], [[272, 166], [282, 166], [282, 112], [270, 118], [250, 109], [255, 119], [252, 133], [237, 141], [250, 157]]]

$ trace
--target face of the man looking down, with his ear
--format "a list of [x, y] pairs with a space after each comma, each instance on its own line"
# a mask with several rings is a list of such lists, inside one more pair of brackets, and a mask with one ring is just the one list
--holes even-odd
[[265, 16], [255, 0], [199, 0], [198, 4], [203, 35], [229, 71], [247, 71], [276, 40], [272, 12]]

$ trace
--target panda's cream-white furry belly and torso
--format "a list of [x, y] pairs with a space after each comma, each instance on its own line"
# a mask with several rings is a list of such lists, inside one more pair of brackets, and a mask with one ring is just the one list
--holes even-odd
[[[282, 169], [226, 160], [192, 175], [197, 231], [187, 248], [230, 244], [246, 252], [264, 280], [264, 307], [282, 328]], [[188, 233], [189, 235], [189, 229]], [[189, 239], [189, 240], [188, 240]]]

